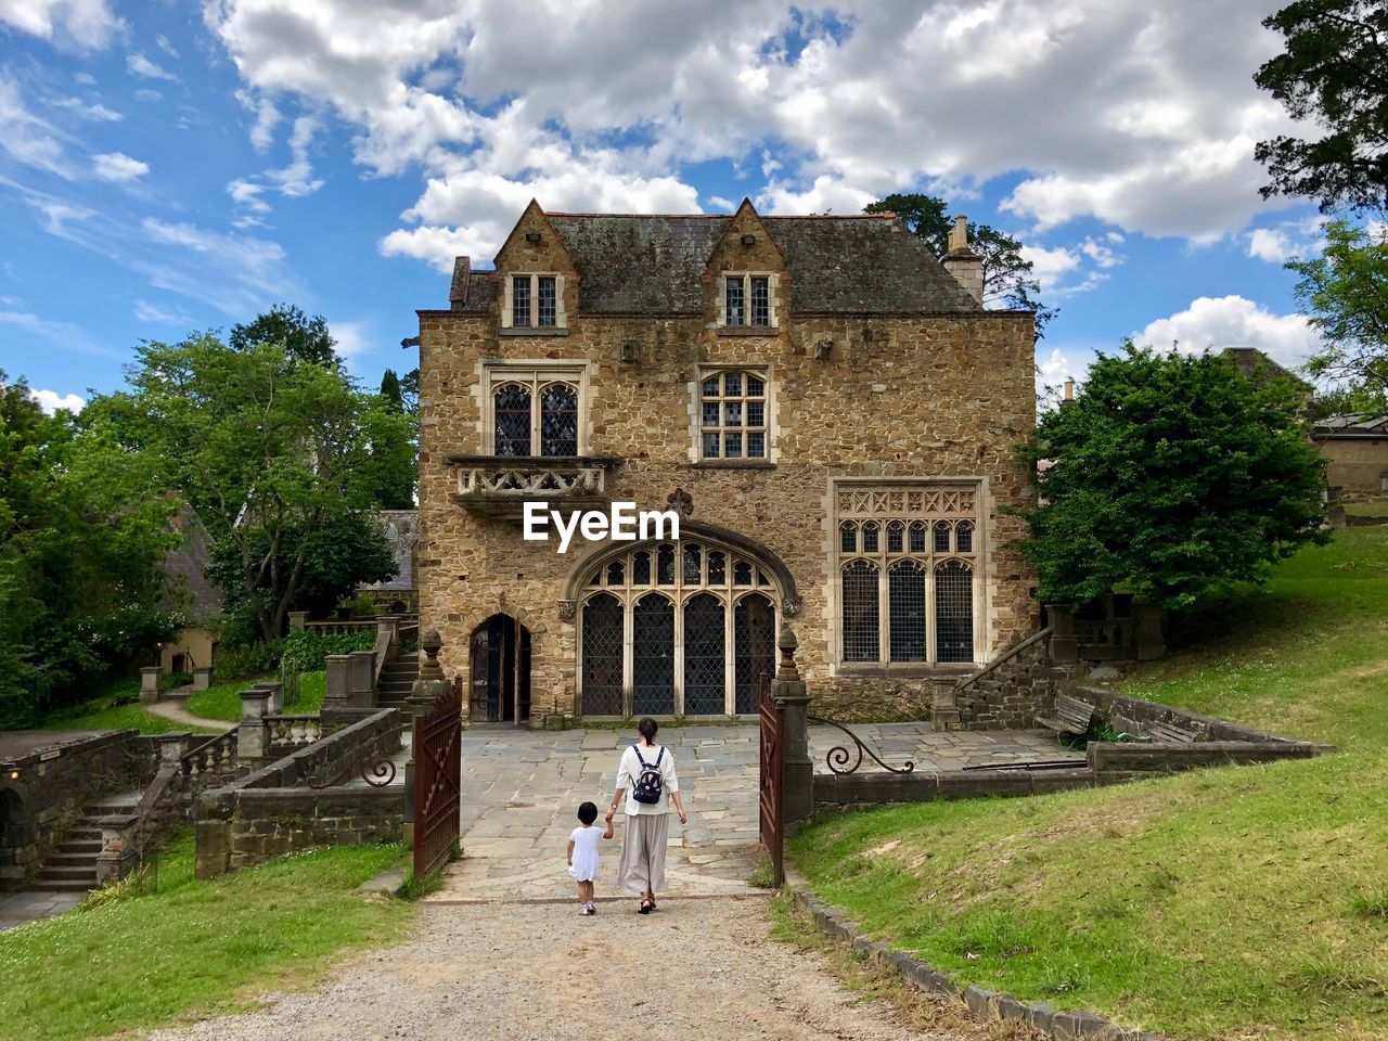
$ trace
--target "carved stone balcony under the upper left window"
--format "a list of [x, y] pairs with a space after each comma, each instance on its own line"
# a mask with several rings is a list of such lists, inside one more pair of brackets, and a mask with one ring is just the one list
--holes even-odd
[[604, 509], [612, 455], [450, 455], [458, 475], [455, 502], [476, 514], [519, 520], [526, 502], [552, 509]]

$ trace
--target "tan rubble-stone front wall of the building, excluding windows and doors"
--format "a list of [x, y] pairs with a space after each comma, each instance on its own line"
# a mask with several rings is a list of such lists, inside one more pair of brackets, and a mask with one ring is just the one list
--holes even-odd
[[[515, 269], [569, 271], [558, 251], [544, 253], [552, 235], [532, 248], [525, 230], [522, 222], [508, 247]], [[779, 261], [740, 264], [775, 269]], [[829, 713], [861, 718], [859, 701], [881, 702], [890, 690], [884, 715], [920, 715], [929, 682], [923, 668], [863, 680], [836, 665], [833, 479], [977, 480], [985, 625], [976, 655], [991, 658], [1035, 632], [1034, 579], [1019, 548], [1024, 526], [1006, 512], [1026, 509], [1034, 494], [1016, 454], [1035, 421], [1030, 314], [797, 314], [786, 278], [779, 326], [734, 336], [702, 316], [584, 316], [576, 279], [566, 278], [564, 291], [566, 335], [501, 335], [496, 305], [487, 315], [419, 312], [421, 626], [440, 632], [441, 663], [465, 687], [473, 629], [505, 612], [532, 634], [533, 712], [576, 705], [576, 626], [561, 616], [559, 600], [582, 554], [523, 541], [518, 523], [477, 516], [454, 500], [458, 477], [446, 457], [487, 451], [482, 386], [490, 359], [586, 361], [586, 451], [622, 459], [608, 473], [608, 497], [663, 509], [683, 489], [693, 496], [693, 519], [755, 537], [780, 557], [804, 601], [793, 619], [801, 670]], [[829, 358], [816, 359], [822, 343], [831, 344]], [[637, 361], [620, 361], [632, 350]], [[694, 458], [697, 366], [731, 362], [770, 366], [769, 461]]]

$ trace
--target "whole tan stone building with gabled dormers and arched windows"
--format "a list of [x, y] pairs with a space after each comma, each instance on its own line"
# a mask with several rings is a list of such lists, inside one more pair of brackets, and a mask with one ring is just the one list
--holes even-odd
[[[790, 620], [816, 704], [922, 713], [1037, 627], [1012, 512], [1030, 312], [891, 215], [547, 214], [419, 311], [419, 609], [473, 720], [755, 711]], [[523, 537], [523, 504], [680, 539]]]

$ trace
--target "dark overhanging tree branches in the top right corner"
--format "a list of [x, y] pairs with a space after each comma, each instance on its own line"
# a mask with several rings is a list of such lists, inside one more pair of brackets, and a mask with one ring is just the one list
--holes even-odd
[[1285, 37], [1285, 51], [1253, 82], [1309, 126], [1314, 140], [1280, 135], [1253, 155], [1267, 167], [1271, 196], [1309, 196], [1323, 211], [1337, 204], [1388, 204], [1388, 6], [1382, 0], [1296, 0], [1263, 25]]

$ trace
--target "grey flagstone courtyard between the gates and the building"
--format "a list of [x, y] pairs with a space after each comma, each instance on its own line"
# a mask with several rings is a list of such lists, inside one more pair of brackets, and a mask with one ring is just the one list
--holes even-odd
[[[891, 765], [906, 759], [917, 772], [1055, 759], [1053, 737], [1030, 731], [934, 733], [929, 723], [855, 727]], [[626, 730], [527, 730], [475, 727], [462, 734], [464, 859], [444, 872], [433, 902], [568, 899], [565, 845], [583, 801], [605, 808], [612, 798], [620, 751], [636, 740]], [[824, 755], [852, 743], [838, 730], [813, 726], [811, 755], [827, 773]], [[683, 897], [750, 894], [756, 862], [758, 730], [755, 726], [682, 726], [661, 731], [676, 756], [688, 824], [672, 820], [668, 891]], [[862, 770], [877, 770], [870, 759]], [[618, 895], [616, 836], [602, 844], [598, 897]]]

